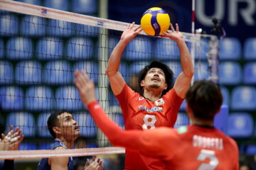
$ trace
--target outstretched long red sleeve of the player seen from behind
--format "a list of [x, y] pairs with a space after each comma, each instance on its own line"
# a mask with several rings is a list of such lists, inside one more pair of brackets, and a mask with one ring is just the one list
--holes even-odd
[[[102, 110], [97, 101], [88, 104], [92, 118], [100, 130], [107, 136], [112, 145], [133, 149], [151, 157], [170, 155], [166, 145], [174, 138], [171, 128], [157, 128], [154, 130], [122, 130]], [[176, 145], [169, 145], [169, 147]]]

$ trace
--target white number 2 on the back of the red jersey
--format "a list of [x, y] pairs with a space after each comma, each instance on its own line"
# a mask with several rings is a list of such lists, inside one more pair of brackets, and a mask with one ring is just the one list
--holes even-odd
[[215, 156], [215, 152], [211, 150], [202, 149], [196, 159], [198, 161], [204, 161], [207, 158], [210, 159], [210, 162], [208, 164], [202, 163], [198, 167], [198, 170], [203, 170], [203, 169], [214, 170], [218, 166], [218, 163], [219, 163], [218, 158]]

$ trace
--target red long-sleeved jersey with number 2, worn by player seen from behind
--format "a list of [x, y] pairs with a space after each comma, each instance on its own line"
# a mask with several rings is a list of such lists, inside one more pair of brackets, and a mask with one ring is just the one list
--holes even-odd
[[238, 145], [215, 128], [189, 125], [177, 130], [164, 127], [154, 130], [122, 130], [107, 117], [96, 101], [90, 103], [88, 109], [113, 145], [160, 159], [164, 164], [163, 169], [239, 168]]

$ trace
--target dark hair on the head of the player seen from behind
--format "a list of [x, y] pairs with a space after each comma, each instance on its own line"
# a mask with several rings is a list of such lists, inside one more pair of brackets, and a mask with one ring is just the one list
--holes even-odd
[[198, 80], [188, 89], [186, 102], [195, 118], [213, 120], [223, 103], [223, 96], [213, 81]]

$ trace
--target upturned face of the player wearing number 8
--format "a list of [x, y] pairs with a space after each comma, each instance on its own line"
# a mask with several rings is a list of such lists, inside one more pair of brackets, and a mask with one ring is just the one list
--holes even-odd
[[167, 89], [164, 71], [159, 68], [149, 69], [141, 86], [162, 90]]

